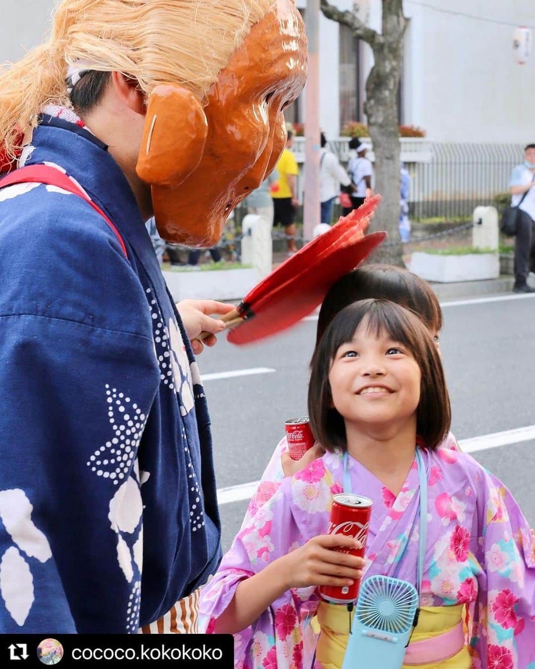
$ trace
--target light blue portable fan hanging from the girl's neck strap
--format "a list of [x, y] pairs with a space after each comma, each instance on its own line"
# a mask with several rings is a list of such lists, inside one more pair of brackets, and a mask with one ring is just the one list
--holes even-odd
[[418, 607], [408, 581], [371, 576], [362, 581], [342, 669], [399, 669]]

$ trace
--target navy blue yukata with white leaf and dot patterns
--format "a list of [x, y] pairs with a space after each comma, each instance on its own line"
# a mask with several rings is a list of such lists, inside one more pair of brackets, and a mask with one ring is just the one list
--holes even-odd
[[221, 558], [197, 363], [106, 146], [43, 116], [0, 190], [0, 632], [136, 633]]

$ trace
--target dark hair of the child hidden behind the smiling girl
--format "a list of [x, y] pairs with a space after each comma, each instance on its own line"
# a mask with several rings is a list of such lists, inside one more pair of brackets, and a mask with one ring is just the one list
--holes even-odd
[[326, 294], [316, 334], [316, 346], [340, 310], [368, 298], [391, 300], [413, 311], [430, 330], [442, 328], [442, 310], [427, 281], [394, 265], [366, 265], [342, 276]]

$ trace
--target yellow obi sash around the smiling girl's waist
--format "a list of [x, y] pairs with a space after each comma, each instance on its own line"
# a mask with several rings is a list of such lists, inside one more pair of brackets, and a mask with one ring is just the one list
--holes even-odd
[[[461, 623], [463, 608], [463, 604], [423, 606], [420, 611], [418, 626], [413, 632], [409, 646], [453, 630]], [[350, 614], [345, 606], [330, 604], [326, 601], [320, 602], [318, 624], [321, 631], [316, 646], [316, 661], [323, 669], [341, 669], [349, 635], [349, 619]], [[312, 622], [314, 624], [315, 621]], [[403, 664], [403, 669], [412, 669], [414, 666], [415, 664]], [[471, 659], [467, 647], [463, 646], [447, 660], [439, 660], [430, 664], [418, 664], [417, 666], [419, 669], [434, 669], [435, 667], [440, 667], [440, 669], [470, 669]]]

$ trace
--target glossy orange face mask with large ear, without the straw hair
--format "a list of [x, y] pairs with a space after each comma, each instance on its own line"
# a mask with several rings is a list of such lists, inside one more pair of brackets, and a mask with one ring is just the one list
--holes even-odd
[[201, 106], [178, 84], [150, 94], [136, 171], [151, 185], [160, 235], [214, 246], [230, 211], [274, 169], [286, 143], [282, 109], [306, 79], [306, 37], [291, 0], [253, 25]]

